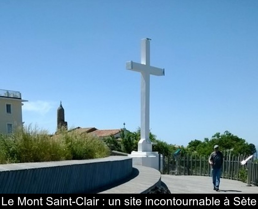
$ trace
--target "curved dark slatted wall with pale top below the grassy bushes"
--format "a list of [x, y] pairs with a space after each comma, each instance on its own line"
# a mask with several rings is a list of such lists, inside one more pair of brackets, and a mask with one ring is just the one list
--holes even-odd
[[90, 193], [132, 174], [132, 159], [110, 156], [0, 165], [1, 194]]

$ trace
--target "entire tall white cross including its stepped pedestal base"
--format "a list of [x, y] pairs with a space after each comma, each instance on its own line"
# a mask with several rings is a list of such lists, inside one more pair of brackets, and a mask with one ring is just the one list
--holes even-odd
[[152, 152], [150, 134], [150, 75], [164, 76], [165, 70], [150, 65], [150, 40], [141, 40], [141, 63], [126, 62], [126, 69], [141, 73], [141, 139], [138, 152], [133, 151], [133, 164], [152, 167], [158, 170], [158, 152]]

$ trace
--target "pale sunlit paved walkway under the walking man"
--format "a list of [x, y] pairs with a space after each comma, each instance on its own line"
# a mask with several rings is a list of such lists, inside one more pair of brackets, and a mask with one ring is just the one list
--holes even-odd
[[194, 175], [161, 175], [171, 194], [258, 194], [257, 186], [246, 186], [246, 183], [221, 179], [220, 191], [214, 191], [211, 177]]

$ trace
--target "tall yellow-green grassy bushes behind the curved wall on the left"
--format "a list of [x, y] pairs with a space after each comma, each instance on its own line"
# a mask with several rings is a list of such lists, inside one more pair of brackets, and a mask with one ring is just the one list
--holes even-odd
[[22, 128], [0, 135], [0, 164], [84, 160], [110, 155], [102, 140], [88, 134], [60, 130], [49, 135], [45, 130]]

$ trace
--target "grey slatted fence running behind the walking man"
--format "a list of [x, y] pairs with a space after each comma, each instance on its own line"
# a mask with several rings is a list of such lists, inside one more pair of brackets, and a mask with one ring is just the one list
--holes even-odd
[[[222, 165], [221, 177], [257, 186], [258, 162], [253, 162], [251, 159], [247, 164], [242, 165], [241, 161], [246, 158], [247, 156], [244, 155], [226, 155]], [[162, 173], [164, 174], [211, 176], [212, 172], [209, 156], [179, 155], [175, 158], [172, 155], [165, 157], [163, 163]]]

